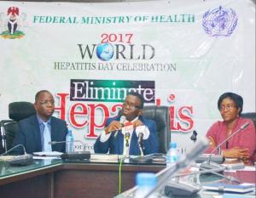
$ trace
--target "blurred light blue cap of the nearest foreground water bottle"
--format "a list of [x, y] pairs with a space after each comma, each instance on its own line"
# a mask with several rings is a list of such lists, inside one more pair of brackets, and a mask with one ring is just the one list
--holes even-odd
[[137, 186], [154, 187], [157, 179], [154, 173], [137, 173], [136, 184]]

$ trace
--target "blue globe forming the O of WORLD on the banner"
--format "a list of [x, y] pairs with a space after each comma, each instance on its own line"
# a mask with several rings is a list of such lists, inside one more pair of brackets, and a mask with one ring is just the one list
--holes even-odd
[[96, 48], [96, 54], [99, 59], [102, 59], [104, 61], [112, 59], [113, 45], [108, 42], [99, 44]]

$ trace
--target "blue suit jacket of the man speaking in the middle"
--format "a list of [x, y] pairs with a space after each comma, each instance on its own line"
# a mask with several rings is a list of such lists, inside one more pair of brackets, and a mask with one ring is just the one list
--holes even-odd
[[[119, 121], [120, 116], [114, 118], [108, 118], [106, 126], [109, 125], [113, 120]], [[148, 120], [143, 116], [139, 116], [139, 120], [143, 122], [145, 126], [148, 127], [150, 132], [149, 138], [143, 140], [144, 144], [144, 155], [148, 155], [151, 153], [158, 152], [158, 139], [156, 135], [156, 123], [152, 120]], [[114, 137], [114, 133], [111, 133], [109, 139], [102, 143], [100, 141], [100, 137], [96, 139], [96, 143], [94, 144], [94, 151], [96, 153], [108, 153], [109, 154], [119, 154], [122, 155], [124, 150], [124, 135], [122, 133], [118, 133], [116, 137]], [[133, 131], [131, 135], [131, 144], [130, 144], [130, 155], [139, 156], [140, 150], [137, 144], [137, 134]]]

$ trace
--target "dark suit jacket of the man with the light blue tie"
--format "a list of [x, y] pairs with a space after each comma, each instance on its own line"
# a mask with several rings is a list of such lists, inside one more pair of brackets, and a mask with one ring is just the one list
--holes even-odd
[[[65, 141], [67, 135], [67, 124], [59, 118], [51, 117], [51, 140], [52, 141]], [[30, 116], [18, 122], [18, 131], [15, 134], [14, 146], [23, 144], [26, 153], [32, 154], [33, 152], [42, 151], [41, 148], [41, 133], [38, 124], [37, 115]], [[53, 151], [65, 152], [66, 144], [52, 145]], [[15, 149], [14, 154], [23, 154], [21, 147]]]

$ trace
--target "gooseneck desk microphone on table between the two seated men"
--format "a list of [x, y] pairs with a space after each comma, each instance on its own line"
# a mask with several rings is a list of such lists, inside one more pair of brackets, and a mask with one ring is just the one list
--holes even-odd
[[70, 153], [63, 153], [61, 154], [61, 159], [62, 160], [88, 160], [90, 159], [90, 151], [84, 150], [84, 143], [81, 140], [73, 140], [73, 141], [52, 141], [49, 142], [48, 144], [63, 144], [63, 143], [68, 143], [68, 142], [79, 142], [80, 144], [83, 145], [83, 150], [82, 151], [74, 151]]

